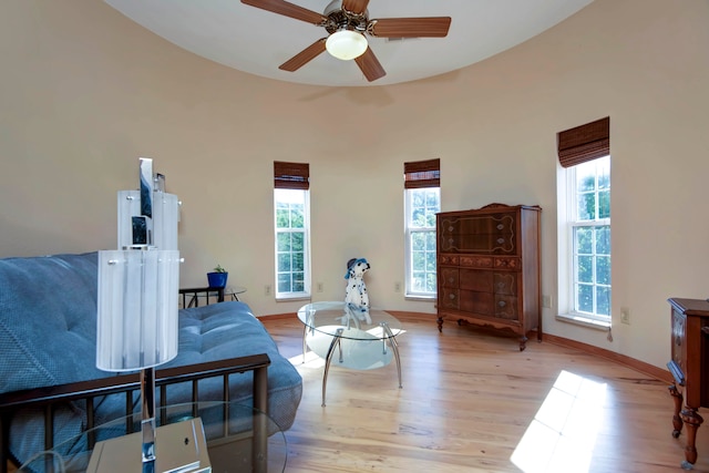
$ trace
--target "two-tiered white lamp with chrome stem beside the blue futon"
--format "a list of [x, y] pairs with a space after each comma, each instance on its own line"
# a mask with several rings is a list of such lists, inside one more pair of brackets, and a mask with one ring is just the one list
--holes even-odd
[[119, 192], [122, 249], [99, 251], [96, 367], [141, 370], [143, 472], [153, 472], [155, 367], [177, 356], [178, 203], [152, 160], [140, 168], [140, 192]]

